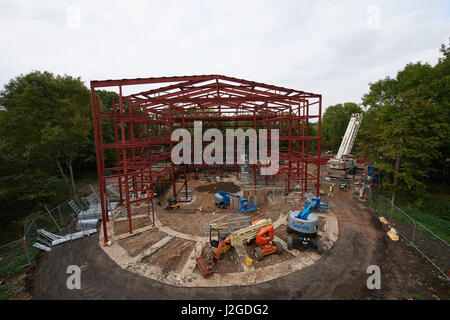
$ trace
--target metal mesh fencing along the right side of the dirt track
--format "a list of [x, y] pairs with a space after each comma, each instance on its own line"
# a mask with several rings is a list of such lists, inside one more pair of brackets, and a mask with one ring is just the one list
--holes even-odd
[[417, 249], [449, 281], [450, 245], [433, 231], [413, 219], [391, 200], [379, 196], [373, 202], [376, 212], [383, 216], [397, 233]]

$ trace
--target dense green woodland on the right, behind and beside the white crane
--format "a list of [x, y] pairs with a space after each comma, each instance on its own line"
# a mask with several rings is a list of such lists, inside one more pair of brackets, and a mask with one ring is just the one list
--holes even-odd
[[337, 151], [352, 113], [363, 113], [353, 153], [384, 175], [383, 193], [450, 240], [450, 47], [434, 66], [410, 63], [395, 78], [370, 84], [362, 103], [330, 106], [324, 148]]

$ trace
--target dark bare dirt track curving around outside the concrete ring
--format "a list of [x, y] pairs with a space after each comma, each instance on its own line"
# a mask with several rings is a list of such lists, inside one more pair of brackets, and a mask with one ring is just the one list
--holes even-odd
[[[33, 299], [450, 298], [449, 285], [438, 279], [433, 266], [404, 242], [391, 241], [378, 218], [354, 200], [351, 191], [337, 190], [331, 202], [344, 205], [333, 208], [339, 223], [335, 246], [314, 265], [269, 282], [220, 290], [166, 285], [121, 269], [99, 247], [94, 235], [42, 253], [28, 273], [27, 292]], [[283, 230], [277, 229], [276, 234], [282, 238]], [[184, 257], [185, 251], [180, 249], [175, 254]], [[233, 259], [232, 251], [229, 253], [224, 260]], [[160, 263], [179, 268], [169, 260]], [[66, 287], [66, 269], [72, 264], [82, 268], [81, 290]], [[369, 265], [381, 268], [381, 290], [366, 287]]]

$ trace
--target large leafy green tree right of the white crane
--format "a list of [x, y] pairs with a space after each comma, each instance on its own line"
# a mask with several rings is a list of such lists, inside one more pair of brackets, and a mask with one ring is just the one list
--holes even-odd
[[366, 151], [385, 172], [393, 202], [399, 191], [423, 194], [442, 169], [437, 163], [448, 157], [449, 67], [444, 56], [435, 67], [408, 64], [396, 78], [371, 84], [363, 97], [370, 121], [363, 121], [360, 138], [371, 144]]

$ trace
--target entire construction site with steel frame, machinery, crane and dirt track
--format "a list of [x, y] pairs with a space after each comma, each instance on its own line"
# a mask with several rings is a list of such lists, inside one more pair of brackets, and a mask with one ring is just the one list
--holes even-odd
[[[136, 90], [142, 86], [150, 89]], [[114, 88], [119, 97], [105, 108], [99, 88]], [[54, 285], [45, 279], [65, 259], [95, 271], [91, 281], [103, 289], [84, 290], [90, 298], [377, 298], [366, 287], [366, 269], [392, 268], [386, 248], [398, 236], [389, 239], [386, 223], [365, 204], [380, 177], [351, 155], [361, 115], [352, 116], [332, 156], [321, 151], [320, 94], [202, 75], [92, 81], [91, 97], [98, 188], [90, 202], [97, 211], [79, 213], [77, 228], [86, 236], [99, 228], [99, 236], [45, 256], [36, 267], [37, 296], [58, 291], [48, 290]], [[212, 141], [205, 139], [210, 128], [266, 129], [258, 134], [266, 145], [277, 129], [279, 150], [268, 154], [278, 156], [278, 170], [263, 175], [269, 164], [249, 160], [250, 143], [233, 144], [231, 163], [208, 164], [203, 157], [174, 163], [173, 132], [195, 134], [196, 123], [203, 139], [194, 137], [189, 146], [202, 154]], [[319, 128], [315, 136], [311, 123]], [[106, 130], [114, 131], [114, 141], [104, 139]], [[56, 244], [61, 239], [38, 232]], [[403, 259], [413, 261], [406, 253]], [[398, 279], [393, 275], [385, 273], [383, 281]]]

